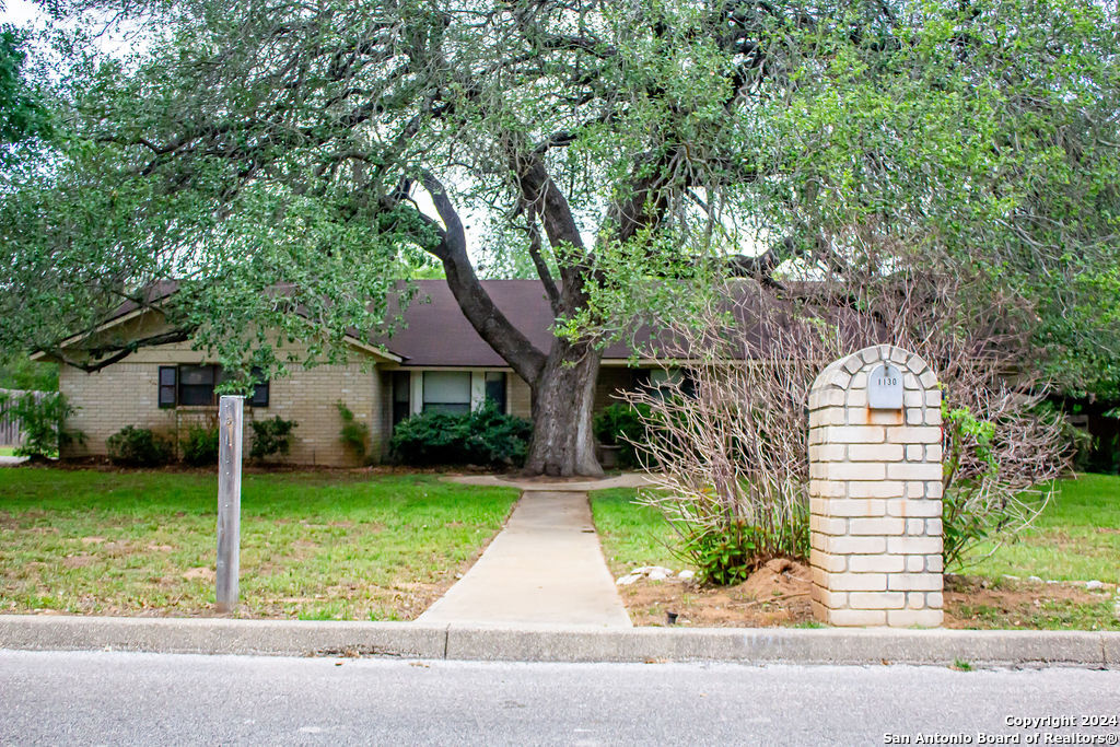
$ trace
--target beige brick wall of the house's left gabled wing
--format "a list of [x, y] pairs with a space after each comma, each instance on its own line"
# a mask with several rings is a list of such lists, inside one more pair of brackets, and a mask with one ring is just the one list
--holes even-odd
[[[86, 436], [84, 445], [68, 449], [65, 456], [108, 454], [105, 439], [125, 426], [151, 428], [175, 439], [190, 423], [213, 422], [216, 408], [160, 409], [157, 404], [160, 365], [205, 362], [203, 353], [184, 344], [146, 348], [93, 374], [63, 366], [59, 390], [77, 408], [71, 424]], [[246, 438], [251, 433], [248, 421], [280, 415], [299, 423], [287, 461], [356, 465], [357, 458], [338, 440], [343, 424], [338, 401], [354, 412], [358, 422], [367, 424], [370, 454], [380, 458], [388, 418], [382, 377], [358, 361], [311, 368], [290, 366], [288, 376], [271, 382], [269, 407], [245, 408]]]

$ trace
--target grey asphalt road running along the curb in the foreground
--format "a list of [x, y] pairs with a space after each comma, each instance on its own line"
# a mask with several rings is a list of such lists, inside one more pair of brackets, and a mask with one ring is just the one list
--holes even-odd
[[3, 745], [1117, 744], [1120, 725], [1007, 723], [1083, 716], [1120, 719], [1120, 671], [0, 651]]

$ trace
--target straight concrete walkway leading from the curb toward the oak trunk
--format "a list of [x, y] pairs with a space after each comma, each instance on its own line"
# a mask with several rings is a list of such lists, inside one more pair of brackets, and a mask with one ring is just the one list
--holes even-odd
[[522, 493], [478, 562], [417, 623], [631, 627], [587, 493]]

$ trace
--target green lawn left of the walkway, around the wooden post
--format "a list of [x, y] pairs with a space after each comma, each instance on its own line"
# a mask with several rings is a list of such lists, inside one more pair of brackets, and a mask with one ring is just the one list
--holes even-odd
[[[0, 611], [204, 615], [216, 476], [0, 469]], [[242, 617], [411, 619], [501, 529], [510, 488], [245, 475]]]

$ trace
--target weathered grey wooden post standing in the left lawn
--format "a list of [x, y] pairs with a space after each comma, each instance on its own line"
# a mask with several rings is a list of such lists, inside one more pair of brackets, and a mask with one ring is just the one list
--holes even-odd
[[217, 610], [237, 606], [241, 551], [241, 429], [243, 396], [223, 394], [217, 447]]

